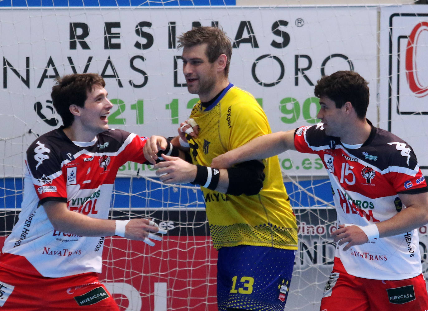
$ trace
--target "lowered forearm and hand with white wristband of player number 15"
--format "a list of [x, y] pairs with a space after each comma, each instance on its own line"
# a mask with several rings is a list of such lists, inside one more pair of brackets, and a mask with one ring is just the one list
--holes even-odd
[[[347, 251], [351, 246], [366, 243], [369, 238], [390, 237], [403, 234], [419, 228], [428, 223], [428, 193], [398, 194], [406, 208], [395, 214], [390, 219], [375, 224], [358, 227], [356, 225], [340, 225], [333, 232], [334, 242], [339, 245], [348, 243], [343, 250]], [[374, 227], [376, 226], [376, 227]], [[377, 234], [378, 232], [378, 234]]]

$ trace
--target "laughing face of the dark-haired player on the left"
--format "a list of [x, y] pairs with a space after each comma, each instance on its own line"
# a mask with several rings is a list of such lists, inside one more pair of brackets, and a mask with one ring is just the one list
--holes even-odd
[[86, 92], [86, 101], [83, 107], [72, 106], [74, 106], [71, 109], [75, 115], [73, 125], [79, 127], [80, 134], [86, 137], [85, 141], [90, 141], [98, 133], [108, 130], [107, 115], [113, 105], [107, 99], [107, 91], [103, 86], [94, 84], [92, 91]]

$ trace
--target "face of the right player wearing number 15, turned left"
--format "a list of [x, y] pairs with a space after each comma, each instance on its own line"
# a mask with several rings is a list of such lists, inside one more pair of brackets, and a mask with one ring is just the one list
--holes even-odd
[[346, 132], [346, 110], [348, 105], [336, 108], [336, 103], [327, 96], [320, 98], [321, 109], [317, 118], [324, 124], [325, 133], [329, 136], [342, 137]]

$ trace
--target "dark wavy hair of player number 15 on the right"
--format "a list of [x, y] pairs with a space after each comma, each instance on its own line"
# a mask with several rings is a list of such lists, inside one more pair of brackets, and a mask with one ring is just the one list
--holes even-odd
[[355, 71], [337, 71], [330, 76], [322, 77], [315, 86], [315, 96], [327, 96], [341, 108], [349, 101], [355, 109], [358, 118], [366, 118], [369, 106], [369, 84]]

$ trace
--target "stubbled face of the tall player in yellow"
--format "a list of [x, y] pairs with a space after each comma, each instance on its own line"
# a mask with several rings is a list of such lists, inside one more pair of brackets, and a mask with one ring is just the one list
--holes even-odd
[[198, 94], [201, 101], [209, 101], [217, 95], [215, 91], [219, 83], [217, 61], [208, 61], [206, 48], [206, 43], [184, 47], [181, 56], [187, 90], [190, 94]]

